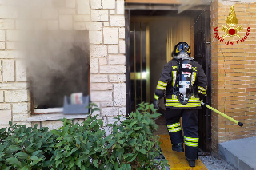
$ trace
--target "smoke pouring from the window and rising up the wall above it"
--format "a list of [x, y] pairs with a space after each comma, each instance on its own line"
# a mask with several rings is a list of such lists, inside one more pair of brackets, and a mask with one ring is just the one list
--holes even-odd
[[62, 107], [71, 93], [88, 95], [88, 31], [74, 30], [75, 1], [68, 2], [73, 1], [6, 1], [17, 12], [19, 48], [35, 108]]

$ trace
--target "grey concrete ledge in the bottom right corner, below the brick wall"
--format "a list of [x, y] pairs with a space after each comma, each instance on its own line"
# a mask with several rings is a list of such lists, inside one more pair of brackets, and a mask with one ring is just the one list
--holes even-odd
[[235, 168], [256, 170], [256, 137], [219, 144], [219, 156]]

